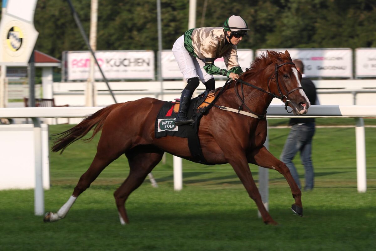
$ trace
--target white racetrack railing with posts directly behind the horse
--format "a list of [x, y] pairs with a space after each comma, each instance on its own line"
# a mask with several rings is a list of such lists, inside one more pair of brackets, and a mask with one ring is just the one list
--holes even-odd
[[[71, 118], [85, 117], [103, 107], [40, 107], [40, 108], [0, 108], [0, 118], [31, 118], [35, 135], [35, 215], [44, 214], [44, 190], [42, 184], [41, 163], [41, 128], [38, 118]], [[270, 105], [267, 110], [269, 118], [294, 117], [288, 114], [284, 106]], [[242, 116], [242, 115], [240, 115]], [[356, 117], [356, 176], [358, 192], [365, 192], [365, 132], [363, 117], [376, 117], [376, 105], [312, 105], [304, 117]], [[259, 190], [265, 205], [268, 205], [267, 169], [260, 168]], [[181, 159], [174, 157], [174, 189], [182, 187]]]

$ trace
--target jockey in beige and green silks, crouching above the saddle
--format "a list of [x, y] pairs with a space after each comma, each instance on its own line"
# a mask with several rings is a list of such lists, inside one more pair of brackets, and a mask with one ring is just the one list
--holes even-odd
[[[192, 94], [199, 86], [199, 78], [206, 89], [215, 89], [213, 75], [239, 78], [243, 73], [238, 63], [237, 44], [247, 35], [248, 25], [240, 16], [232, 15], [223, 27], [204, 27], [187, 30], [179, 37], [172, 51], [187, 85], [180, 97], [179, 113], [175, 125], [189, 125], [187, 119]], [[214, 65], [214, 60], [223, 57], [226, 69]]]

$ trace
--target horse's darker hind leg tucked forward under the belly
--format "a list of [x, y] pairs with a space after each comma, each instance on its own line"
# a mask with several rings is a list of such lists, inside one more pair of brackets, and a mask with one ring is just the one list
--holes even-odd
[[164, 151], [154, 146], [138, 146], [126, 153], [129, 161], [129, 175], [115, 191], [114, 197], [118, 208], [120, 223], [129, 223], [125, 201], [145, 180], [148, 173], [161, 161]]

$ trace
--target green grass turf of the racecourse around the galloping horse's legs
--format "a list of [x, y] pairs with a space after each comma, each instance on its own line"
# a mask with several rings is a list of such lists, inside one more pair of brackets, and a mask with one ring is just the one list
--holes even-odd
[[[51, 126], [61, 132], [69, 125]], [[289, 129], [270, 129], [278, 157]], [[129, 197], [130, 224], [121, 226], [113, 192], [128, 173], [121, 157], [108, 166], [62, 221], [44, 224], [33, 215], [33, 190], [0, 191], [0, 250], [372, 250], [376, 244], [375, 128], [366, 128], [367, 192], [356, 189], [354, 128], [317, 128], [312, 158], [315, 189], [303, 192], [304, 216], [293, 214], [287, 182], [270, 170], [269, 208], [278, 226], [264, 225], [257, 208], [229, 165], [183, 160], [184, 187], [173, 191], [172, 157]], [[96, 151], [77, 142], [50, 154], [51, 189], [45, 210], [63, 205]], [[296, 157], [304, 184], [303, 167]], [[258, 167], [250, 166], [255, 180]]]

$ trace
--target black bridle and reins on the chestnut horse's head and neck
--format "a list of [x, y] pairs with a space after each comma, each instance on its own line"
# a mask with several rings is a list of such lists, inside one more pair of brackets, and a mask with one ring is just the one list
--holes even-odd
[[[285, 63], [279, 64], [279, 65], [276, 64], [275, 67], [274, 67], [274, 73], [272, 73], [272, 74], [269, 76], [269, 78], [268, 78], [268, 91], [265, 91], [264, 89], [259, 88], [259, 87], [255, 86], [255, 85], [249, 84], [248, 82], [245, 82], [245, 81], [243, 81], [243, 80], [235, 79], [235, 80], [237, 81], [237, 83], [235, 83], [235, 92], [236, 92], [238, 98], [240, 99], [240, 101], [242, 102], [242, 105], [239, 107], [239, 110], [241, 110], [242, 106], [244, 105], [244, 106], [245, 106], [245, 107], [246, 107], [251, 113], [256, 114], [256, 115], [259, 116], [259, 117], [264, 117], [264, 116], [265, 116], [265, 114], [264, 114], [264, 115], [261, 115], [261, 114], [254, 113], [254, 112], [253, 112], [253, 111], [252, 111], [252, 110], [251, 110], [251, 109], [250, 109], [250, 108], [244, 103], [244, 92], [243, 92], [243, 84], [244, 84], [244, 85], [248, 85], [248, 86], [250, 86], [250, 87], [253, 87], [253, 88], [255, 88], [255, 89], [259, 90], [259, 91], [262, 91], [262, 92], [264, 92], [264, 93], [267, 93], [267, 94], [269, 94], [269, 95], [272, 96], [272, 97], [276, 97], [277, 99], [282, 100], [282, 102], [284, 102], [284, 104], [285, 104], [285, 109], [286, 109], [286, 111], [288, 112], [288, 110], [287, 110], [287, 103], [288, 103], [288, 102], [291, 102], [291, 100], [288, 100], [288, 94], [292, 93], [293, 91], [296, 91], [296, 90], [299, 90], [299, 89], [303, 89], [303, 87], [297, 87], [297, 88], [294, 88], [293, 90], [288, 91], [287, 88], [286, 88], [286, 85], [283, 84], [282, 87], [284, 88], [284, 91], [286, 92], [286, 95], [282, 94], [282, 91], [281, 91], [281, 88], [280, 88], [280, 86], [279, 86], [279, 82], [278, 82], [278, 79], [279, 79], [278, 68], [281, 67], [282, 65], [285, 65], [285, 64], [293, 64], [293, 65], [295, 65], [293, 62], [285, 62]], [[274, 94], [274, 93], [271, 93], [271, 91], [270, 91], [270, 83], [271, 83], [271, 80], [273, 80], [274, 78], [276, 79], [276, 84], [277, 84], [277, 89], [278, 89], [278, 92], [279, 92], [279, 96], [277, 96], [277, 95]], [[238, 89], [236, 88], [236, 86], [237, 86], [238, 83], [241, 84], [241, 94], [242, 94], [243, 98], [240, 97], [240, 95], [239, 95], [239, 91], [238, 91]], [[286, 101], [284, 101], [285, 98], [286, 98]], [[288, 112], [288, 113], [292, 113], [292, 112], [293, 112], [293, 111]]]

